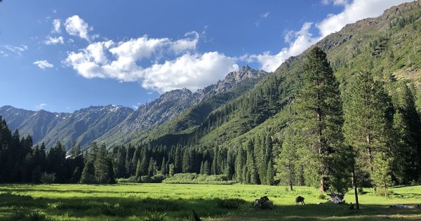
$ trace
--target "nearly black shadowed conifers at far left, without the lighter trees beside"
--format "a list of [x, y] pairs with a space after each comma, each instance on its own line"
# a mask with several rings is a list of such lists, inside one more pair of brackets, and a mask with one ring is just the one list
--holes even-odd
[[44, 143], [33, 147], [30, 135], [20, 138], [11, 133], [0, 116], [0, 182], [76, 182], [83, 169], [83, 156], [66, 158], [65, 147], [58, 142], [46, 153]]

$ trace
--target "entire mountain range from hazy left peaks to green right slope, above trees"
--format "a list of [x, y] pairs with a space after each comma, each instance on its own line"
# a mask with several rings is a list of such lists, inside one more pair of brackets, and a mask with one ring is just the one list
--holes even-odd
[[[421, 86], [421, 3], [387, 9], [377, 18], [346, 25], [321, 39], [342, 91], [361, 70], [386, 84]], [[51, 147], [57, 140], [88, 147], [149, 142], [152, 145], [234, 145], [244, 138], [269, 133], [276, 138], [288, 125], [290, 103], [300, 89], [300, 65], [309, 50], [288, 58], [275, 72], [248, 66], [196, 92], [168, 91], [133, 110], [121, 106], [88, 107], [74, 113], [0, 108], [8, 126]], [[421, 93], [418, 93], [421, 94]], [[421, 107], [417, 99], [418, 107]]]

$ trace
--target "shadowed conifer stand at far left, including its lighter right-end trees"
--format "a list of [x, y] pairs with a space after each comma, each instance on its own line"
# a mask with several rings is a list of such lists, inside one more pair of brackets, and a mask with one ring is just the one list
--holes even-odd
[[73, 145], [67, 154], [57, 142], [46, 152], [44, 143], [33, 146], [32, 138], [11, 133], [0, 116], [0, 182], [33, 183], [114, 183], [111, 155], [104, 145], [91, 145], [82, 154]]

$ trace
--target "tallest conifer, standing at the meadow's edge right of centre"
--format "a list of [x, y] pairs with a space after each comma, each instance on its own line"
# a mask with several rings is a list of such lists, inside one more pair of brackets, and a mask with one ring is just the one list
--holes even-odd
[[295, 100], [295, 121], [300, 128], [300, 137], [305, 138], [305, 160], [314, 167], [308, 169], [316, 171], [320, 191], [326, 192], [329, 182], [337, 178], [338, 161], [334, 156], [342, 156], [339, 152], [344, 149], [339, 83], [333, 76], [326, 53], [317, 46], [309, 51], [302, 72], [302, 88]]

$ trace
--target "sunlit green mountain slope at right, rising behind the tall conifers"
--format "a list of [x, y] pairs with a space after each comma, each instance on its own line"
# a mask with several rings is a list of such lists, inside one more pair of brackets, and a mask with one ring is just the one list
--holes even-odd
[[[366, 69], [376, 79], [413, 82], [421, 86], [421, 4], [389, 8], [378, 18], [345, 26], [316, 43], [325, 51], [342, 91], [356, 72]], [[288, 104], [300, 88], [302, 54], [289, 58], [252, 90], [206, 116], [186, 133], [166, 133], [152, 145], [232, 146], [257, 134], [279, 133], [290, 120]], [[419, 102], [419, 101], [418, 101]]]

